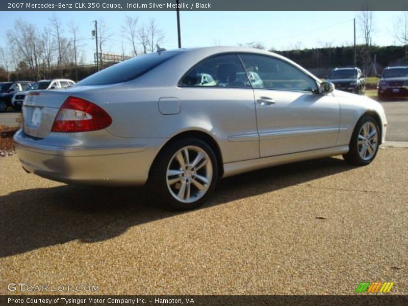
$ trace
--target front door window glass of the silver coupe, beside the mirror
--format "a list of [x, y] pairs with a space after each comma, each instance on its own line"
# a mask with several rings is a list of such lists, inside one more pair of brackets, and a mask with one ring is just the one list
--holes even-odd
[[242, 54], [253, 88], [315, 91], [317, 84], [309, 75], [282, 60], [269, 56]]

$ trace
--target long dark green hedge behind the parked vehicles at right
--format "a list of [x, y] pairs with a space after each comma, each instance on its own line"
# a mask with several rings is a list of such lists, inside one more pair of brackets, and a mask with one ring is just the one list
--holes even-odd
[[[325, 71], [333, 67], [354, 65], [354, 46], [325, 47], [302, 50], [274, 51], [304, 68]], [[375, 69], [374, 69], [375, 63]], [[408, 65], [408, 45], [405, 46], [356, 46], [356, 66], [368, 75], [381, 73], [387, 66]], [[318, 75], [322, 77], [322, 75]]]

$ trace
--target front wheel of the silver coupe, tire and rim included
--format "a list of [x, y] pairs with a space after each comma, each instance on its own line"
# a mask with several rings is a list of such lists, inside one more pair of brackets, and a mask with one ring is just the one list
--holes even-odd
[[378, 122], [364, 115], [355, 125], [347, 154], [343, 158], [351, 165], [365, 166], [371, 163], [378, 152], [380, 141]]

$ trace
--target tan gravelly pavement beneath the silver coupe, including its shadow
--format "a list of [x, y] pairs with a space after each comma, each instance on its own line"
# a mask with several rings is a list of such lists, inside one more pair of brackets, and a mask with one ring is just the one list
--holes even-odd
[[222, 180], [207, 207], [174, 213], [141, 189], [71, 187], [1, 158], [0, 294], [10, 282], [353, 294], [380, 281], [406, 295], [407, 159], [407, 148], [383, 148], [366, 167], [327, 158], [251, 172]]

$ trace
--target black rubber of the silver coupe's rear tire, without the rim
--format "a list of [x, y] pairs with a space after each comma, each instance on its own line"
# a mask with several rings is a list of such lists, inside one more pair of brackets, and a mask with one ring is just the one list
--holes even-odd
[[[167, 187], [166, 182], [166, 172], [167, 167], [170, 162], [170, 159], [174, 156], [174, 154], [183, 147], [186, 146], [197, 146], [201, 149], [205, 150], [210, 157], [212, 166], [213, 166], [213, 177], [211, 180], [211, 184], [207, 193], [192, 203], [183, 203], [175, 199]], [[213, 151], [213, 149], [205, 142], [200, 139], [196, 138], [185, 138], [173, 141], [167, 144], [157, 156], [154, 164], [151, 167], [149, 173], [149, 180], [148, 186], [149, 189], [154, 192], [154, 196], [156, 197], [158, 203], [164, 208], [168, 208], [171, 210], [191, 210], [201, 206], [204, 202], [207, 201], [209, 196], [213, 193], [215, 186], [217, 185], [219, 179], [219, 169], [217, 163], [217, 157]]]

